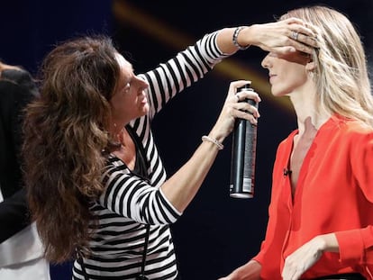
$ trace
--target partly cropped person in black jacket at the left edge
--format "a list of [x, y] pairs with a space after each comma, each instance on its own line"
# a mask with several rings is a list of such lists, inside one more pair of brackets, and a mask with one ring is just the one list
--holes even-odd
[[23, 109], [37, 95], [28, 71], [0, 61], [0, 279], [50, 279], [20, 160]]

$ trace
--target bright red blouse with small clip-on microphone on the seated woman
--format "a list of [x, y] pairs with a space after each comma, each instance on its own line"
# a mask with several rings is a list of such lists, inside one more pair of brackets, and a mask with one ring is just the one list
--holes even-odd
[[302, 279], [349, 272], [373, 279], [373, 131], [339, 117], [325, 122], [305, 155], [292, 201], [284, 168], [296, 133], [277, 149], [266, 238], [254, 257], [261, 278], [282, 279], [289, 254], [335, 232], [340, 253], [325, 252]]

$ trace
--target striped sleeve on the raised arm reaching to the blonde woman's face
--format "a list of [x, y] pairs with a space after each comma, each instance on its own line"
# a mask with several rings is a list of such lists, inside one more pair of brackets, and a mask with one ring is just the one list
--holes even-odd
[[219, 50], [218, 32], [206, 34], [195, 45], [189, 46], [173, 59], [161, 63], [157, 68], [139, 75], [149, 83], [148, 99], [150, 119], [177, 93], [191, 86], [229, 55]]

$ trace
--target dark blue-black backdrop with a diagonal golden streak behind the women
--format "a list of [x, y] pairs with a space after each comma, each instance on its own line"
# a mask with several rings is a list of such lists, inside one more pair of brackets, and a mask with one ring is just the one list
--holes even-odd
[[[267, 23], [289, 9], [313, 4], [330, 5], [349, 16], [371, 63], [373, 0], [2, 1], [0, 58], [36, 75], [41, 59], [58, 41], [105, 33], [141, 73], [206, 32]], [[172, 225], [183, 280], [210, 280], [230, 273], [258, 252], [264, 237], [277, 144], [296, 128], [287, 100], [274, 100], [270, 95], [267, 71], [260, 68], [264, 56], [265, 52], [251, 47], [225, 59], [203, 80], [177, 95], [153, 123], [160, 155], [172, 175], [191, 157], [201, 136], [211, 130], [232, 80], [250, 79], [262, 98], [255, 196], [229, 197], [232, 140], [228, 138], [195, 200]], [[56, 279], [68, 278], [62, 270], [55, 274]]]

